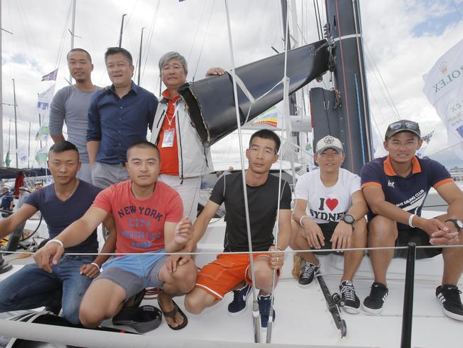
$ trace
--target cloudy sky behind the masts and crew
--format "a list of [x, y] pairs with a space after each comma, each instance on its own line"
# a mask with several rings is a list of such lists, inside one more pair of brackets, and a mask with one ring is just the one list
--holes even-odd
[[[295, 2], [300, 43], [318, 40], [312, 1]], [[68, 84], [71, 0], [2, 0], [1, 6], [1, 28], [12, 33], [2, 32], [3, 102], [13, 104], [14, 78], [19, 148], [26, 149], [29, 121], [33, 135], [38, 129], [37, 93], [47, 87], [41, 76], [58, 68], [56, 90]], [[233, 0], [229, 6], [236, 66], [273, 55], [271, 46], [283, 50], [280, 0]], [[384, 133], [387, 123], [397, 118], [420, 121], [423, 133], [436, 129], [439, 136], [428, 154], [443, 150], [446, 135], [422, 93], [422, 76], [463, 39], [463, 0], [363, 0], [360, 7], [375, 129]], [[189, 80], [202, 78], [211, 66], [231, 67], [222, 0], [77, 0], [74, 46], [93, 56], [93, 83], [99, 86], [110, 83], [103, 54], [108, 46], [117, 46], [123, 14], [127, 14], [123, 47], [134, 58], [145, 27], [140, 84], [156, 95], [160, 89], [157, 61], [166, 51], [179, 51], [187, 58]], [[13, 107], [4, 105], [3, 115], [6, 153]], [[13, 123], [11, 134], [13, 151]], [[32, 140], [31, 153], [38, 148]], [[443, 160], [454, 157], [449, 151], [442, 153]]]

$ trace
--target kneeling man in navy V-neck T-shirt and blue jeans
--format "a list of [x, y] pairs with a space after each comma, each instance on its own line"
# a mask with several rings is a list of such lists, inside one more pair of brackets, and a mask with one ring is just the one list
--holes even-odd
[[[1, 220], [0, 237], [8, 235], [40, 210], [48, 227], [49, 242], [56, 242], [53, 238], [90, 208], [100, 189], [76, 178], [80, 162], [75, 145], [68, 141], [53, 145], [48, 153], [48, 168], [54, 183], [35, 190], [27, 196], [19, 210]], [[114, 249], [115, 233], [112, 233], [102, 252], [113, 252]], [[66, 255], [51, 267], [50, 273], [41, 270], [35, 263], [24, 266], [0, 282], [0, 312], [62, 304], [62, 316], [78, 324], [83, 294], [93, 277], [100, 274], [103, 262], [108, 260], [107, 255], [96, 258], [85, 255], [96, 252], [98, 240], [95, 230], [79, 245], [66, 249], [66, 253], [82, 255]]]

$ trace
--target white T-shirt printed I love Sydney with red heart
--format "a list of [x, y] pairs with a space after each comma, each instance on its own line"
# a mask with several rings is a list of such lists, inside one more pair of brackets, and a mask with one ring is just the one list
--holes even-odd
[[320, 170], [299, 178], [296, 199], [307, 201], [306, 215], [316, 223], [338, 222], [352, 205], [352, 194], [360, 190], [360, 177], [340, 168], [338, 182], [327, 188], [321, 182]]

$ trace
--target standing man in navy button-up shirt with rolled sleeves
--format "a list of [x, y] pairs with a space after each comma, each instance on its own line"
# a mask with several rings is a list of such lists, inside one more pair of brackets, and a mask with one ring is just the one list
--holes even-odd
[[110, 47], [105, 63], [113, 84], [93, 95], [88, 110], [88, 158], [92, 183], [99, 188], [128, 180], [125, 153], [133, 143], [146, 140], [157, 108], [155, 95], [132, 82], [130, 52]]

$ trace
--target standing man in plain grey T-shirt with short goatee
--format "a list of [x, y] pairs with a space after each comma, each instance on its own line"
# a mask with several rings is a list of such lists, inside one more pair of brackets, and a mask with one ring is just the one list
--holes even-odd
[[93, 63], [87, 51], [74, 48], [69, 51], [67, 58], [69, 72], [76, 84], [61, 88], [53, 97], [50, 107], [50, 135], [55, 143], [64, 141], [63, 122], [66, 122], [68, 141], [78, 148], [82, 163], [77, 178], [92, 183], [85, 136], [90, 99], [100, 87], [92, 83]]

